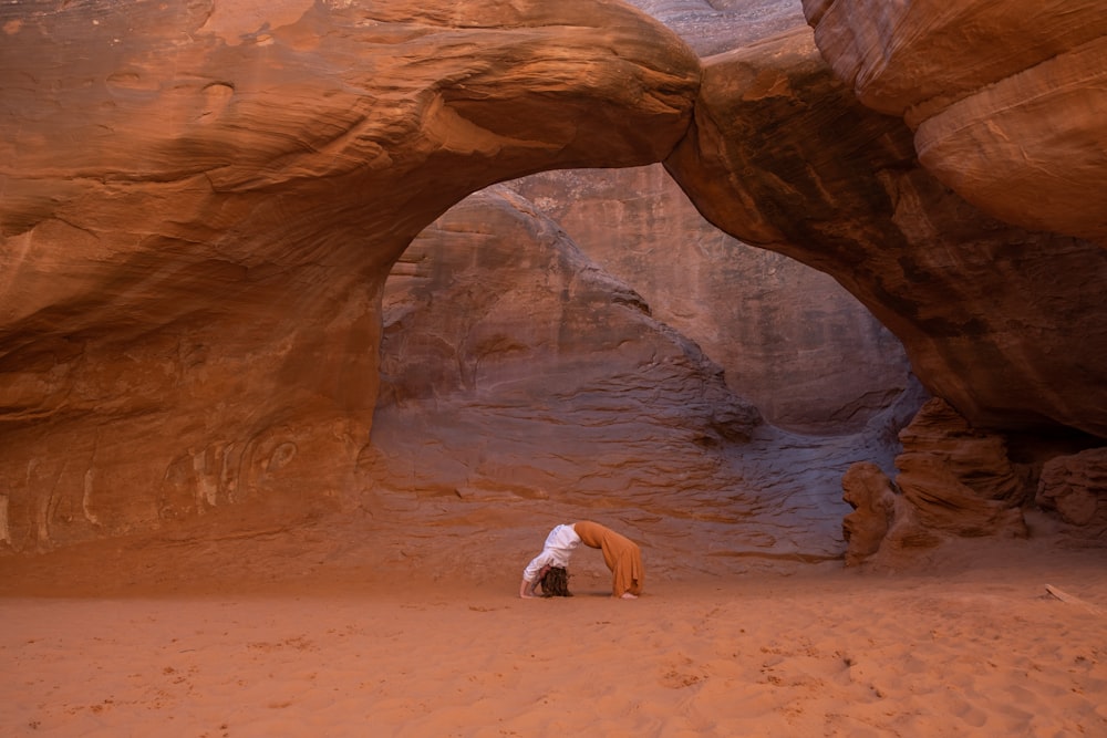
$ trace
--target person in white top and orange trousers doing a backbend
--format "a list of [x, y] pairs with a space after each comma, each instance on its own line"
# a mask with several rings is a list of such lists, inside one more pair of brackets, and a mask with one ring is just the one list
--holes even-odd
[[[612, 596], [633, 600], [642, 593], [642, 550], [638, 544], [598, 522], [581, 520], [557, 526], [550, 531], [542, 552], [523, 571], [519, 596], [525, 600], [538, 596], [535, 588], [551, 569], [568, 567], [573, 549], [580, 543], [603, 552], [603, 563], [612, 574]], [[545, 584], [542, 589], [546, 591]], [[568, 590], [563, 594], [568, 595]]]

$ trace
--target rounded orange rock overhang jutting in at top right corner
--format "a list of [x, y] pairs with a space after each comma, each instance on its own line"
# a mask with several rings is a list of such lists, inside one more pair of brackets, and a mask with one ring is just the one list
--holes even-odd
[[1097, 0], [804, 0], [838, 76], [904, 116], [982, 210], [1107, 243], [1107, 14]]

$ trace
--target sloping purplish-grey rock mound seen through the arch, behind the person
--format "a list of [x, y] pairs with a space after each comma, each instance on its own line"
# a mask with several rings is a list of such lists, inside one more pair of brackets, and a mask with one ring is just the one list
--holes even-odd
[[[840, 475], [858, 456], [891, 468], [888, 430], [919, 404], [835, 438], [762, 424], [699, 346], [506, 187], [421, 233], [383, 304], [361, 456], [377, 521], [467, 521], [461, 500], [494, 505], [505, 526], [614, 516], [660, 550], [735, 567], [836, 558]], [[693, 529], [727, 544], [705, 549]]]

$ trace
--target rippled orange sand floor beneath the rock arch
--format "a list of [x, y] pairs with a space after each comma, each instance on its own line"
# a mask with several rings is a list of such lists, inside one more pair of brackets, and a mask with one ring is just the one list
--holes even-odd
[[335, 530], [3, 560], [0, 735], [1107, 736], [1101, 548], [713, 572], [653, 545], [638, 601], [583, 550], [576, 596], [524, 601], [545, 526], [459, 567], [464, 532], [405, 553]]

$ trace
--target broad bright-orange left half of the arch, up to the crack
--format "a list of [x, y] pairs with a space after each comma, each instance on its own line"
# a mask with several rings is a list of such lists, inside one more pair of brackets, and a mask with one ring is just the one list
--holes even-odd
[[615, 2], [0, 12], [17, 550], [355, 489], [411, 239], [499, 179], [656, 162], [699, 83]]

